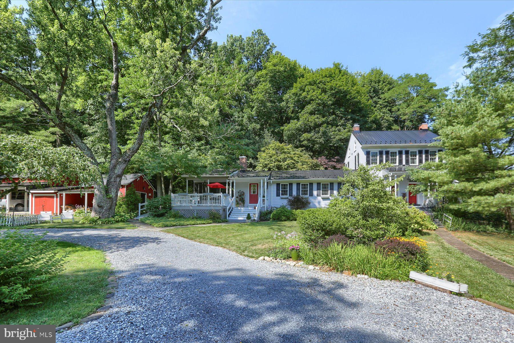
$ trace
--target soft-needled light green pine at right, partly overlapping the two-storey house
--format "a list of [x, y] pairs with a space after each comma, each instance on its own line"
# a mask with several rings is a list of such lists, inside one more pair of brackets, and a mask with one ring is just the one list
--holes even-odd
[[451, 208], [503, 212], [514, 231], [514, 85], [488, 94], [477, 95], [472, 87], [455, 90], [435, 115], [436, 145], [445, 151], [437, 162], [410, 173], [422, 182], [418, 191], [437, 185], [435, 196], [444, 196]]

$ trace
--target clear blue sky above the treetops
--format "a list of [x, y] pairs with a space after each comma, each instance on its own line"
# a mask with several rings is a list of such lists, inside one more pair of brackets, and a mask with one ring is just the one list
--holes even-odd
[[462, 81], [465, 46], [514, 11], [512, 1], [336, 2], [223, 0], [209, 38], [261, 28], [285, 56], [310, 68], [340, 62], [397, 77], [427, 73], [439, 86]]

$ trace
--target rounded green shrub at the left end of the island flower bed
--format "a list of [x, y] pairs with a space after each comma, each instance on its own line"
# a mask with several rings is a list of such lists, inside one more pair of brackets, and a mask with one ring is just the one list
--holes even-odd
[[334, 220], [334, 212], [329, 208], [311, 208], [298, 216], [298, 228], [305, 242], [316, 245], [326, 236], [340, 233], [340, 226]]

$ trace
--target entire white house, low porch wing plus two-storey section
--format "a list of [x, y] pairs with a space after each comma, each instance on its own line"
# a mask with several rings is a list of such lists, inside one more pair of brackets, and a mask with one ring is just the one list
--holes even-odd
[[[430, 206], [432, 199], [423, 194], [412, 194], [407, 167], [419, 167], [425, 161], [436, 161], [441, 149], [429, 146], [437, 135], [428, 124], [409, 131], [365, 131], [355, 124], [345, 156], [345, 165], [357, 169], [390, 162], [393, 167], [380, 171], [380, 176], [396, 179], [406, 175], [391, 189], [396, 196], [412, 205]], [[240, 156], [238, 170], [211, 170], [200, 176], [182, 175], [186, 179], [186, 193], [172, 194], [172, 208], [184, 216], [207, 217], [216, 211], [229, 221], [245, 221], [250, 213], [259, 219], [262, 210], [286, 204], [291, 195], [308, 198], [310, 208], [326, 207], [331, 195], [341, 187], [343, 170], [249, 171], [246, 156]], [[351, 172], [351, 171], [350, 171]], [[213, 188], [216, 187], [216, 188]]]

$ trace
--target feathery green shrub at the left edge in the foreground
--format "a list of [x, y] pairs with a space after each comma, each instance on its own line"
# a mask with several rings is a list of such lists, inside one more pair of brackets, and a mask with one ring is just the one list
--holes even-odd
[[31, 301], [39, 287], [63, 270], [64, 258], [56, 241], [43, 234], [0, 232], [0, 312]]

